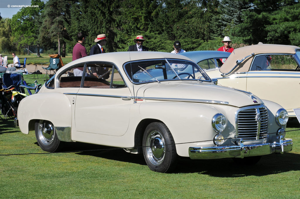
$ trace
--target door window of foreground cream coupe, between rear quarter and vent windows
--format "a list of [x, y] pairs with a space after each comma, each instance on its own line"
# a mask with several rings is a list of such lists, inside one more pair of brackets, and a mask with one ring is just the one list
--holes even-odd
[[87, 76], [84, 78], [83, 88], [110, 88], [113, 74], [111, 64], [86, 64]]

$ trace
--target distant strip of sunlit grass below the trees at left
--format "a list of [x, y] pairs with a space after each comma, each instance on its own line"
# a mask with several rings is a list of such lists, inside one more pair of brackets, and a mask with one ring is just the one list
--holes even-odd
[[[13, 56], [11, 54], [3, 54], [2, 57], [4, 57], [4, 56], [7, 56], [8, 64], [13, 63]], [[18, 56], [21, 64], [24, 63], [24, 58], [27, 58], [26, 65], [45, 63], [45, 62], [49, 62], [49, 59], [50, 59], [49, 55], [44, 54], [44, 53], [41, 53], [41, 57], [37, 57], [34, 54], [31, 54], [31, 55], [18, 55], [17, 54], [17, 56]], [[64, 64], [67, 64], [72, 61], [72, 54], [67, 54], [66, 57], [62, 57], [61, 59]]]

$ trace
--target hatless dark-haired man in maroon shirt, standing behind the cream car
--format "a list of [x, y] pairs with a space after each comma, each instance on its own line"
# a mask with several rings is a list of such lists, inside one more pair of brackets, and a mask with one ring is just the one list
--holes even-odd
[[[79, 32], [77, 34], [77, 38], [78, 41], [73, 47], [72, 61], [88, 56], [85, 47], [82, 46], [82, 43], [85, 41], [85, 34], [83, 32]], [[74, 76], [82, 76], [83, 67], [75, 68], [73, 72], [74, 72]]]

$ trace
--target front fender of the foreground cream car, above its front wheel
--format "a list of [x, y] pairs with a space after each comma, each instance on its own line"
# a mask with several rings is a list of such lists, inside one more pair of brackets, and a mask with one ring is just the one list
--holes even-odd
[[143, 119], [151, 118], [162, 121], [167, 125], [174, 141], [179, 156], [188, 157], [189, 146], [211, 146], [217, 134], [212, 128], [211, 120], [217, 113], [221, 113], [210, 105], [185, 102], [148, 102], [140, 105], [140, 115]]

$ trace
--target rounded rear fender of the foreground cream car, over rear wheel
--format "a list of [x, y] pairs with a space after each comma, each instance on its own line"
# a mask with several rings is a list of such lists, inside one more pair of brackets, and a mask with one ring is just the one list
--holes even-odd
[[31, 120], [48, 120], [57, 127], [71, 126], [72, 108], [70, 100], [61, 93], [37, 93], [21, 100], [18, 107], [19, 127], [29, 133]]

